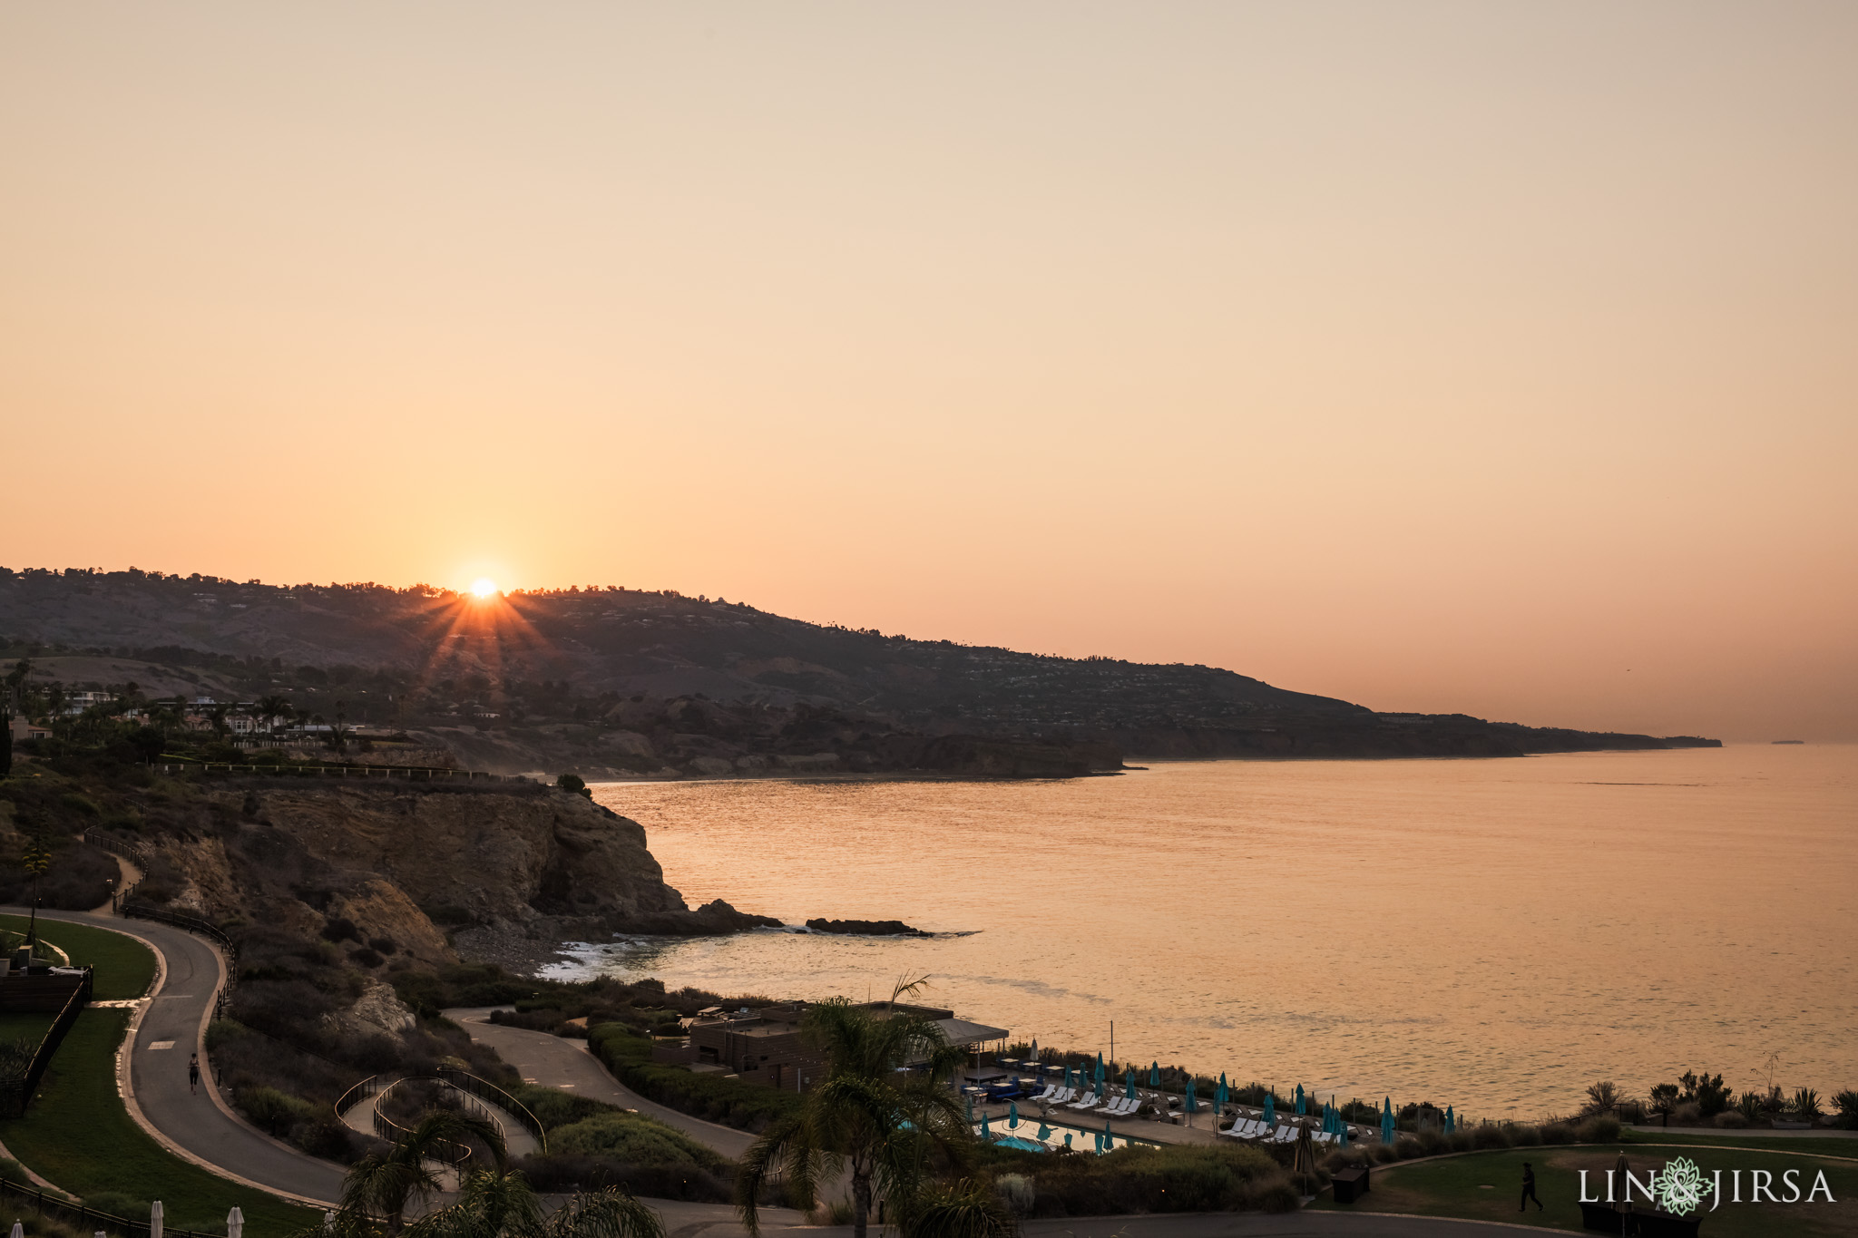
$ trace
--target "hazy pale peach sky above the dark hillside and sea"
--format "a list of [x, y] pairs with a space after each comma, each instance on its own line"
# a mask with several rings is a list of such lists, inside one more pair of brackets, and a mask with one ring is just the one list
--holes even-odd
[[1858, 6], [9, 4], [0, 562], [1858, 737]]

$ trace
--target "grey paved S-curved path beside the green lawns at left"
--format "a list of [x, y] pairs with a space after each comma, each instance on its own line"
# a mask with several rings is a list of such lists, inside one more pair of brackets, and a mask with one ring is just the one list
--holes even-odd
[[[117, 1090], [136, 1125], [182, 1160], [234, 1182], [320, 1208], [340, 1199], [338, 1166], [264, 1134], [234, 1114], [212, 1086], [204, 1041], [214, 995], [225, 978], [217, 948], [193, 934], [150, 921], [45, 908], [39, 909], [39, 919], [108, 928], [137, 937], [156, 952], [160, 973], [154, 995], [139, 1002], [130, 1019], [128, 1039], [117, 1054]], [[203, 1067], [197, 1095], [188, 1088], [191, 1052], [201, 1054]]]

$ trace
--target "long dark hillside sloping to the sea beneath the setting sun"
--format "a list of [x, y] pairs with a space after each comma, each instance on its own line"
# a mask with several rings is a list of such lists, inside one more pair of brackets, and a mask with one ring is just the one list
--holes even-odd
[[[491, 768], [717, 774], [754, 772], [762, 757], [775, 772], [797, 768], [775, 757], [842, 754], [840, 770], [1037, 774], [1115, 765], [1117, 752], [1516, 755], [1709, 742], [1390, 716], [1213, 666], [914, 640], [628, 588], [479, 601], [427, 587], [0, 570], [0, 640], [65, 685], [219, 700], [281, 692], [321, 715], [342, 702], [351, 722]], [[951, 739], [961, 742], [933, 742]]]

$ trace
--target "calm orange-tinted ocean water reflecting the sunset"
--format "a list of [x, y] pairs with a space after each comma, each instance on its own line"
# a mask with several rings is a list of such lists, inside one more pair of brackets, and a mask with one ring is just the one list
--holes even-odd
[[615, 939], [550, 974], [803, 999], [927, 976], [1040, 1045], [1477, 1117], [1693, 1067], [1858, 1088], [1854, 746], [595, 798], [693, 906], [949, 935]]

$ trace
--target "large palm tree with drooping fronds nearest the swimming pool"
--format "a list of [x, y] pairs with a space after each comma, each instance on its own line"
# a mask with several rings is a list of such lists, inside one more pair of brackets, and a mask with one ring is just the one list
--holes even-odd
[[974, 1193], [938, 1195], [927, 1186], [931, 1154], [962, 1166], [974, 1134], [948, 1088], [968, 1051], [949, 1045], [931, 1019], [897, 1006], [918, 987], [922, 980], [899, 982], [890, 1002], [834, 999], [806, 1012], [806, 1039], [825, 1052], [827, 1071], [799, 1110], [771, 1125], [741, 1158], [736, 1206], [751, 1234], [760, 1234], [756, 1199], [765, 1184], [784, 1179], [797, 1197], [812, 1199], [816, 1186], [840, 1171], [851, 1177], [857, 1238], [866, 1238], [873, 1188], [909, 1238], [955, 1232], [961, 1223], [1011, 1232], [998, 1205], [977, 1214]]

